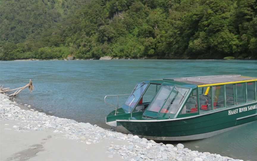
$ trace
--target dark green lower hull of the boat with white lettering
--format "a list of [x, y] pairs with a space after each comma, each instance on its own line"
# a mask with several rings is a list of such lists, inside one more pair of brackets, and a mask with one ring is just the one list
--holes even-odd
[[[160, 141], [182, 141], [209, 138], [257, 120], [257, 110], [231, 114], [239, 108], [256, 107], [257, 103], [214, 111], [194, 117], [170, 120], [117, 120], [118, 132]], [[230, 115], [229, 115], [230, 114]], [[254, 122], [256, 124], [256, 122]]]

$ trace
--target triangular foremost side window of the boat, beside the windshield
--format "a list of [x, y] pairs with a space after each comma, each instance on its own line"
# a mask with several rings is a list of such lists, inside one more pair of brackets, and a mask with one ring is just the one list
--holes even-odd
[[197, 113], [198, 112], [198, 105], [197, 105], [197, 90], [193, 90], [187, 100], [187, 103], [181, 110], [181, 114], [185, 113]]

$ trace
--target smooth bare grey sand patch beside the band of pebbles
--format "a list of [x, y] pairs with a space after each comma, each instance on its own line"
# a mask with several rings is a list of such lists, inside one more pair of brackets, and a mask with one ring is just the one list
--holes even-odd
[[18, 132], [13, 126], [26, 126], [26, 123], [0, 121], [0, 160], [122, 160], [119, 155], [106, 153], [106, 146], [123, 142], [103, 140], [101, 143], [87, 145], [65, 139], [62, 134], [54, 133], [51, 129], [24, 129]]

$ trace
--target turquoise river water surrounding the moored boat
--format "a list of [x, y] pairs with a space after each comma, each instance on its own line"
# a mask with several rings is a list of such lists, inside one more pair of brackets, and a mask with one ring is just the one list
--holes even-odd
[[[104, 128], [109, 128], [105, 116], [114, 109], [104, 103], [105, 95], [129, 94], [141, 80], [221, 74], [257, 77], [257, 61], [0, 61], [0, 84], [17, 88], [29, 79], [34, 83], [35, 90], [31, 94], [27, 89], [22, 91], [16, 97], [18, 101], [54, 116]], [[257, 123], [182, 143], [192, 150], [254, 161], [257, 160]]]

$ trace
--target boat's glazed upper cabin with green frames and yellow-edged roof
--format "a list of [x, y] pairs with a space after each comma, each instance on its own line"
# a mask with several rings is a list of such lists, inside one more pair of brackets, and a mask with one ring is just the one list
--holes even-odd
[[143, 81], [128, 94], [122, 108], [116, 107], [106, 117], [106, 122], [115, 120], [117, 117], [109, 116], [116, 115], [123, 115], [119, 119], [163, 120], [213, 113], [256, 102], [256, 91], [257, 78], [241, 75]]

